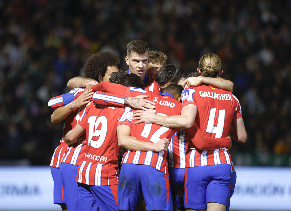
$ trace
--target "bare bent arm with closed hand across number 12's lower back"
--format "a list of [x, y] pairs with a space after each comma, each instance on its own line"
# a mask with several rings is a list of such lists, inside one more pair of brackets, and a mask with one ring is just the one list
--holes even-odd
[[166, 138], [160, 139], [157, 143], [137, 140], [130, 136], [131, 128], [125, 124], [117, 125], [116, 133], [118, 145], [133, 151], [167, 151], [170, 143]]

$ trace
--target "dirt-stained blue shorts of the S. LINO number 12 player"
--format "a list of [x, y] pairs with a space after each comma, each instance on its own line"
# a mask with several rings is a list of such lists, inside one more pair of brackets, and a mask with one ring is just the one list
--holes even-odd
[[124, 163], [118, 183], [119, 210], [136, 210], [144, 197], [147, 210], [173, 209], [169, 177], [148, 165]]

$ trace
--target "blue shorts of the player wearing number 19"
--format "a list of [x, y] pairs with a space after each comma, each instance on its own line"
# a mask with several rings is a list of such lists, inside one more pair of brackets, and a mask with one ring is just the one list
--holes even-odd
[[110, 186], [93, 186], [78, 182], [78, 185], [79, 185], [78, 210], [118, 211], [117, 184]]

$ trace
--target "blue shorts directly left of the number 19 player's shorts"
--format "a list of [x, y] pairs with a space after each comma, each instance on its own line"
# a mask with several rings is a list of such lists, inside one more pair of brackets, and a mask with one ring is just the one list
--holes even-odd
[[71, 211], [78, 210], [79, 204], [79, 187], [76, 182], [76, 176], [79, 166], [61, 163], [60, 164], [60, 173], [63, 190], [65, 192], [67, 209]]

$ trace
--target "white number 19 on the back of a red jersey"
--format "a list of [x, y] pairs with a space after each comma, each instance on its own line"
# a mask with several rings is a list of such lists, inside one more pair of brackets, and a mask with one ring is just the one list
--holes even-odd
[[[88, 145], [92, 146], [94, 148], [99, 148], [102, 146], [106, 134], [107, 134], [107, 118], [106, 116], [99, 116], [98, 119], [97, 116], [89, 116], [88, 122], [89, 123], [89, 134], [88, 134]], [[99, 124], [101, 124], [100, 130], [97, 130]], [[95, 131], [94, 131], [95, 128]], [[92, 138], [98, 137], [97, 141], [93, 141]]]

